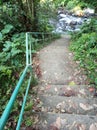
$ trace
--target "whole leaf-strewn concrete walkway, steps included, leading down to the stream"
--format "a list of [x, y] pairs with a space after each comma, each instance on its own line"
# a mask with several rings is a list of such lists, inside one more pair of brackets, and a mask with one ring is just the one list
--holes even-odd
[[97, 98], [62, 35], [38, 53], [41, 78], [32, 130], [97, 130]]

